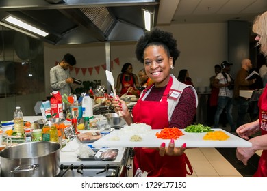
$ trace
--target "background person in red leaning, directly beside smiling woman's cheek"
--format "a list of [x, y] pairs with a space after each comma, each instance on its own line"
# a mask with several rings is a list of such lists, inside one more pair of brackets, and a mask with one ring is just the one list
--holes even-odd
[[143, 91], [146, 87], [153, 84], [153, 80], [151, 80], [151, 78], [147, 76], [144, 68], [138, 72], [138, 77], [140, 80], [139, 88], [136, 90], [133, 90], [133, 87], [129, 87], [128, 89], [129, 93], [136, 95], [136, 97], [139, 97], [141, 91]]

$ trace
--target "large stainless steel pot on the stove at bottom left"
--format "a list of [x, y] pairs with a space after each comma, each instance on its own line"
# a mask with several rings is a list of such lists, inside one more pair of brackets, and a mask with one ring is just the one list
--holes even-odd
[[0, 152], [1, 177], [55, 177], [60, 172], [60, 143], [22, 143]]

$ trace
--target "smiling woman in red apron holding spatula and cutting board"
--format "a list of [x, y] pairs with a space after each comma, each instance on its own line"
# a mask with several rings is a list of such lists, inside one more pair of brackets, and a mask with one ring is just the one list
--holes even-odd
[[[197, 94], [191, 85], [180, 83], [170, 74], [179, 57], [177, 41], [173, 34], [153, 28], [140, 37], [136, 44], [136, 57], [154, 85], [142, 91], [133, 106], [132, 115], [127, 105], [117, 96], [112, 100], [127, 124], [146, 123], [152, 129], [186, 128], [196, 113]], [[168, 95], [168, 96], [166, 96]], [[133, 175], [144, 173], [148, 177], [186, 177], [192, 174], [190, 162], [183, 153], [186, 144], [175, 147], [174, 140], [160, 148], [134, 148]], [[190, 169], [187, 172], [186, 164]]]

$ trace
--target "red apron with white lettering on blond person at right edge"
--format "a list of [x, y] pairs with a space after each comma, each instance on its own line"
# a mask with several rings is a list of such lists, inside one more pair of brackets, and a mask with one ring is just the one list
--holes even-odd
[[[267, 134], [267, 87], [264, 88], [264, 92], [259, 97], [259, 124], [262, 135]], [[253, 177], [267, 177], [267, 150], [262, 151], [257, 171]]]

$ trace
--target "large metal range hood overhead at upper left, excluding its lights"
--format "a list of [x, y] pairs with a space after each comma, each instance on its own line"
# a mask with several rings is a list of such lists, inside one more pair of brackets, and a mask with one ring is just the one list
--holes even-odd
[[[156, 25], [159, 0], [1, 0], [0, 25], [54, 45], [138, 40], [144, 34], [142, 10]], [[49, 33], [42, 37], [5, 23], [13, 16]]]

